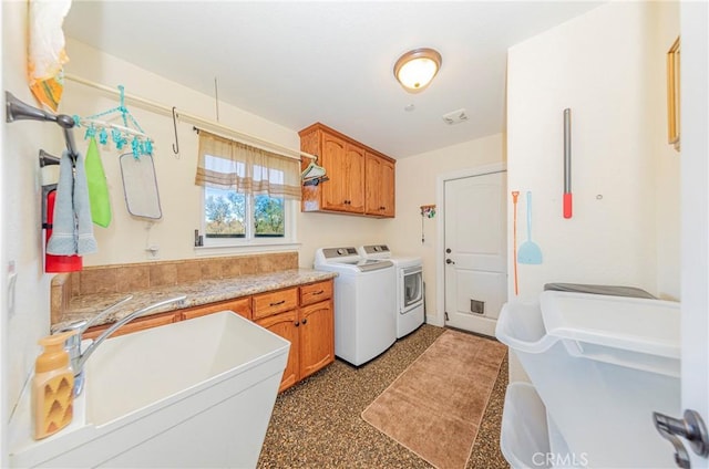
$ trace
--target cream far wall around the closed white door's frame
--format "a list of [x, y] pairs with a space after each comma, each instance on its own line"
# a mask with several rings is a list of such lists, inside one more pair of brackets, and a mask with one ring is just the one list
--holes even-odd
[[[465, 124], [462, 124], [465, 125]], [[495, 134], [459, 145], [425, 152], [397, 160], [397, 218], [387, 226], [386, 239], [392, 251], [423, 259], [427, 321], [442, 325], [442, 312], [436, 311], [436, 215], [422, 220], [420, 207], [436, 204], [440, 175], [505, 161], [505, 137]], [[422, 222], [423, 238], [422, 242]], [[443, 294], [443, 292], [440, 292]]]

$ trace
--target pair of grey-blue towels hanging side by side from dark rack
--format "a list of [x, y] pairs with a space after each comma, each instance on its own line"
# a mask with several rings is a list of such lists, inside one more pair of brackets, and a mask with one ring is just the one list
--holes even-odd
[[59, 165], [52, 237], [47, 242], [47, 252], [54, 256], [84, 256], [97, 251], [83, 156], [76, 155], [74, 159], [75, 175], [68, 150], [62, 154]]

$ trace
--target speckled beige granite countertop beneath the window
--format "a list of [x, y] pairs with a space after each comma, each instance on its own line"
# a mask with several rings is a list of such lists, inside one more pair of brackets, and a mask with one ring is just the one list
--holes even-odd
[[[185, 308], [199, 306], [207, 303], [233, 300], [239, 296], [248, 296], [273, 290], [297, 286], [306, 283], [318, 282], [337, 277], [336, 272], [321, 272], [310, 269], [292, 269], [279, 272], [263, 274], [240, 275], [229, 279], [202, 280], [197, 282], [183, 283], [179, 285], [161, 286], [150, 290], [142, 290], [130, 293], [133, 299], [124, 305], [117, 308], [105, 317], [97, 320], [91, 325], [114, 323], [134, 311], [150, 306], [171, 298], [187, 295], [183, 304], [172, 303], [146, 312], [144, 315], [164, 313]], [[106, 310], [112, 304], [126, 298], [127, 293], [100, 293], [74, 296], [69, 303], [60, 320], [52, 324], [52, 332], [62, 326], [81, 320], [91, 321], [99, 313]]]

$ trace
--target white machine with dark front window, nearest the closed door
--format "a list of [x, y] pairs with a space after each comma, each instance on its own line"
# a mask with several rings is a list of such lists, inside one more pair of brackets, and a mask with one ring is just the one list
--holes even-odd
[[397, 338], [411, 334], [425, 321], [423, 298], [423, 261], [421, 258], [393, 257], [387, 244], [360, 246], [367, 259], [390, 260], [397, 279]]

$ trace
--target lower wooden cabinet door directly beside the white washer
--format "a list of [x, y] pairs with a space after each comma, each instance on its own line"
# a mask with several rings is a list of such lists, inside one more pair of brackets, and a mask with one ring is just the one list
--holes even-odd
[[335, 362], [332, 300], [300, 309], [300, 379]]

